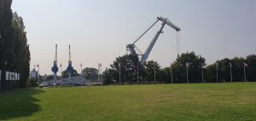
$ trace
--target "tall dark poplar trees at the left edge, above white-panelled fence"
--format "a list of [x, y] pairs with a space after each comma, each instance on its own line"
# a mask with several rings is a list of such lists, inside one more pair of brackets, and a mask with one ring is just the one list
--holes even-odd
[[20, 87], [29, 85], [30, 50], [23, 19], [13, 13], [12, 0], [0, 0], [0, 69], [20, 73]]

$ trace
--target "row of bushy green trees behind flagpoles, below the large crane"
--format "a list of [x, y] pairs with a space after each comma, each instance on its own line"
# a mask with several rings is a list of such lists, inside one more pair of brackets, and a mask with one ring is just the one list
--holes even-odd
[[[256, 55], [246, 58], [235, 57], [217, 60], [206, 66], [206, 59], [195, 52], [177, 55], [172, 65], [161, 67], [157, 61], [148, 60], [140, 65], [136, 55], [123, 55], [102, 73], [103, 84], [137, 84], [137, 83], [218, 83], [244, 81], [244, 64], [246, 64], [247, 81], [256, 81]], [[171, 70], [172, 69], [172, 70]], [[218, 69], [218, 71], [217, 71]], [[218, 74], [218, 78], [217, 78]]]

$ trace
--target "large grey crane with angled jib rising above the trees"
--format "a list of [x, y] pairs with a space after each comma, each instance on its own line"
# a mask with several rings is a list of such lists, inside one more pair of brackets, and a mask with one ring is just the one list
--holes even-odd
[[[162, 26], [160, 27], [160, 30], [159, 30], [158, 32], [156, 32], [156, 34], [154, 35], [153, 40], [152, 40], [151, 43], [148, 45], [148, 49], [146, 49], [145, 53], [143, 54], [139, 49], [137, 49], [137, 46], [135, 45], [135, 43], [137, 43], [137, 41], [138, 41], [141, 37], [143, 37], [143, 35], [144, 35], [146, 32], [148, 32], [158, 21], [162, 21]], [[160, 36], [160, 33], [162, 33], [162, 30], [163, 30], [164, 26], [166, 26], [166, 25], [171, 26], [171, 27], [172, 27], [174, 30], [176, 30], [177, 32], [180, 31], [180, 28], [177, 27], [177, 26], [174, 26], [174, 25], [172, 24], [172, 22], [171, 22], [170, 20], [168, 20], [167, 18], [157, 17], [157, 20], [154, 22], [154, 24], [153, 24], [152, 26], [150, 26], [150, 27], [146, 30], [146, 32], [143, 32], [143, 35], [141, 35], [140, 37], [138, 37], [134, 43], [128, 44], [128, 45], [126, 46], [126, 49], [127, 49], [128, 51], [130, 51], [130, 54], [131, 54], [131, 55], [141, 55], [141, 56], [142, 56], [142, 58], [141, 58], [141, 60], [140, 60], [141, 65], [144, 65], [144, 64], [145, 64], [146, 60], [148, 59], [148, 55], [150, 54], [151, 50], [152, 50], [153, 47], [154, 47], [154, 43], [156, 42], [156, 40], [157, 40], [158, 37]], [[136, 52], [135, 49], [137, 49], [137, 51], [139, 52], [139, 54], [137, 54], [137, 52]]]

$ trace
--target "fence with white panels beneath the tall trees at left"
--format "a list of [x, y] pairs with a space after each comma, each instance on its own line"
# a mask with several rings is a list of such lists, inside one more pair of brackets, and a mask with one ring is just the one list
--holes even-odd
[[0, 70], [0, 93], [13, 91], [20, 87], [20, 73]]

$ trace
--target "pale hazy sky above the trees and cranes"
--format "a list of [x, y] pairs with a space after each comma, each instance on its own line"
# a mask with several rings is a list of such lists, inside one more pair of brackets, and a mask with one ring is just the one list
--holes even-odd
[[[68, 45], [73, 66], [108, 67], [125, 45], [163, 16], [182, 29], [182, 52], [195, 51], [207, 64], [225, 57], [256, 53], [255, 0], [13, 0], [25, 22], [32, 61], [50, 74], [58, 44], [58, 63], [67, 67]], [[137, 46], [144, 51], [160, 24]], [[177, 57], [176, 32], [166, 26], [148, 60], [168, 66]]]

